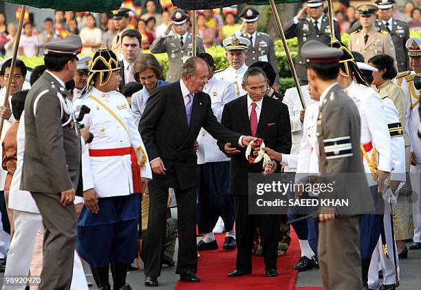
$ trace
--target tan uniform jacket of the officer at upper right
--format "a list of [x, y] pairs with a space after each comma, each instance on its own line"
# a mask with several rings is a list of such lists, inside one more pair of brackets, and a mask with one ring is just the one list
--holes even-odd
[[375, 55], [387, 54], [394, 59], [394, 64], [397, 68], [395, 47], [389, 32], [385, 30], [378, 31], [378, 29], [373, 25], [371, 30], [369, 30], [368, 35], [369, 38], [367, 43], [365, 43], [365, 33], [363, 30], [353, 32], [349, 36], [349, 50], [363, 54], [366, 63]]

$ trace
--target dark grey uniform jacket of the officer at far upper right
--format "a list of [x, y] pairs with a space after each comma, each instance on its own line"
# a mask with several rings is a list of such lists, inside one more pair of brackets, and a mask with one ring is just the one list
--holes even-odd
[[[376, 21], [376, 27], [379, 30], [387, 31], [386, 25], [381, 20]], [[398, 71], [404, 72], [409, 70], [408, 49], [405, 46], [409, 39], [409, 27], [404, 21], [392, 19], [392, 27], [389, 32], [393, 45], [395, 46], [396, 61], [398, 63]], [[368, 59], [366, 59], [368, 61]], [[400, 114], [399, 114], [400, 116]]]

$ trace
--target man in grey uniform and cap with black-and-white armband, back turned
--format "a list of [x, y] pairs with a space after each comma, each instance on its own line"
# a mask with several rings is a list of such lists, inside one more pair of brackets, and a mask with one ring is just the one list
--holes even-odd
[[319, 180], [333, 187], [322, 191], [319, 201], [349, 200], [348, 207], [320, 207], [318, 252], [323, 287], [362, 289], [359, 218], [372, 210], [372, 200], [360, 156], [360, 114], [336, 81], [343, 51], [312, 40], [303, 45], [301, 53], [312, 90], [320, 95]]

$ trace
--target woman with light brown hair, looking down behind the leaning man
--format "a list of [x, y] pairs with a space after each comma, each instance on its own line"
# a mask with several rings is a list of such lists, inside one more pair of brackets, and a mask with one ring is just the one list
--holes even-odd
[[140, 54], [133, 67], [133, 76], [138, 83], [142, 83], [143, 89], [131, 96], [131, 110], [136, 125], [139, 125], [144, 107], [149, 96], [156, 87], [168, 85], [164, 79], [164, 68], [153, 54]]

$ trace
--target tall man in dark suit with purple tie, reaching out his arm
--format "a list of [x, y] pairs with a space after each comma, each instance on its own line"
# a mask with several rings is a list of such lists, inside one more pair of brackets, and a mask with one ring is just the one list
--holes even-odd
[[180, 247], [177, 270], [181, 280], [199, 282], [196, 246], [196, 189], [199, 172], [194, 149], [203, 127], [213, 138], [237, 147], [254, 138], [241, 136], [220, 125], [210, 97], [202, 92], [208, 83], [208, 64], [198, 57], [182, 66], [182, 79], [153, 91], [139, 123], [153, 171], [149, 183], [148, 243], [144, 249], [145, 285], [158, 285], [166, 231], [169, 188], [178, 207]]

